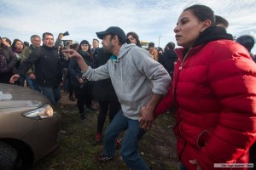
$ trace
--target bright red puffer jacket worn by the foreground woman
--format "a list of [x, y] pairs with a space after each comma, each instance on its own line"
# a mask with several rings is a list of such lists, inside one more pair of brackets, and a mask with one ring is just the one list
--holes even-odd
[[203, 169], [247, 163], [256, 141], [256, 65], [250, 54], [230, 40], [191, 48], [184, 58], [183, 48], [176, 52], [172, 87], [155, 116], [175, 105], [178, 158], [189, 169], [196, 168], [189, 163], [194, 159]]

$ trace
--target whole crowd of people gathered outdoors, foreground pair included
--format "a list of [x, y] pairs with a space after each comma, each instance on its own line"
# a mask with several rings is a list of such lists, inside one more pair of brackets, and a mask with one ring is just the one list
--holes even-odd
[[[98, 101], [96, 142], [100, 162], [120, 153], [132, 170], [149, 169], [137, 153], [139, 140], [154, 119], [172, 109], [180, 169], [213, 169], [216, 163], [246, 165], [255, 159], [256, 65], [254, 37], [234, 38], [229, 22], [205, 5], [185, 8], [174, 28], [177, 45], [142, 48], [139, 36], [111, 26], [96, 32], [102, 40], [62, 44], [63, 34], [32, 35], [31, 45], [0, 37], [0, 82], [26, 85], [52, 105], [61, 99], [61, 82], [77, 100], [79, 118]], [[74, 93], [74, 96], [73, 96]], [[109, 125], [103, 125], [109, 115]], [[170, 146], [172, 147], [172, 146]], [[225, 150], [225, 151], [223, 151]], [[246, 166], [240, 167], [247, 169]]]

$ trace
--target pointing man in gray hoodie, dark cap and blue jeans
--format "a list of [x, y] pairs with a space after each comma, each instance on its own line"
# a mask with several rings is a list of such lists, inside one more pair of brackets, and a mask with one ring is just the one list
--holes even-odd
[[[106, 31], [96, 32], [96, 35], [102, 39], [105, 53], [113, 54], [105, 65], [92, 69], [76, 51], [70, 49], [63, 52], [77, 59], [83, 77], [88, 80], [110, 78], [121, 105], [121, 110], [106, 130], [103, 154], [97, 159], [113, 159], [115, 139], [125, 130], [120, 151], [123, 160], [132, 170], [148, 170], [137, 153], [138, 141], [152, 126], [154, 107], [167, 93], [171, 78], [147, 50], [125, 43], [127, 37], [119, 27], [111, 26]], [[141, 122], [138, 121], [140, 115], [143, 115]]]

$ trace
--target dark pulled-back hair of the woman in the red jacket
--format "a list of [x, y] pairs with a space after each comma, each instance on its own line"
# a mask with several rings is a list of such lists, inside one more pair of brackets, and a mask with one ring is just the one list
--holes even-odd
[[215, 26], [216, 20], [212, 8], [209, 8], [205, 5], [195, 4], [190, 6], [189, 8], [185, 8], [183, 11], [187, 10], [190, 10], [201, 21], [211, 20], [212, 26]]

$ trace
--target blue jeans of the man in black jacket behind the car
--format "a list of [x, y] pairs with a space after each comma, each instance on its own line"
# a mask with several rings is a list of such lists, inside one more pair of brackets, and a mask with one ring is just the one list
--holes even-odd
[[61, 88], [60, 86], [55, 87], [45, 87], [40, 86], [40, 88], [43, 91], [43, 94], [46, 96], [47, 99], [49, 99], [49, 102], [51, 105], [56, 105], [57, 101], [61, 99]]

